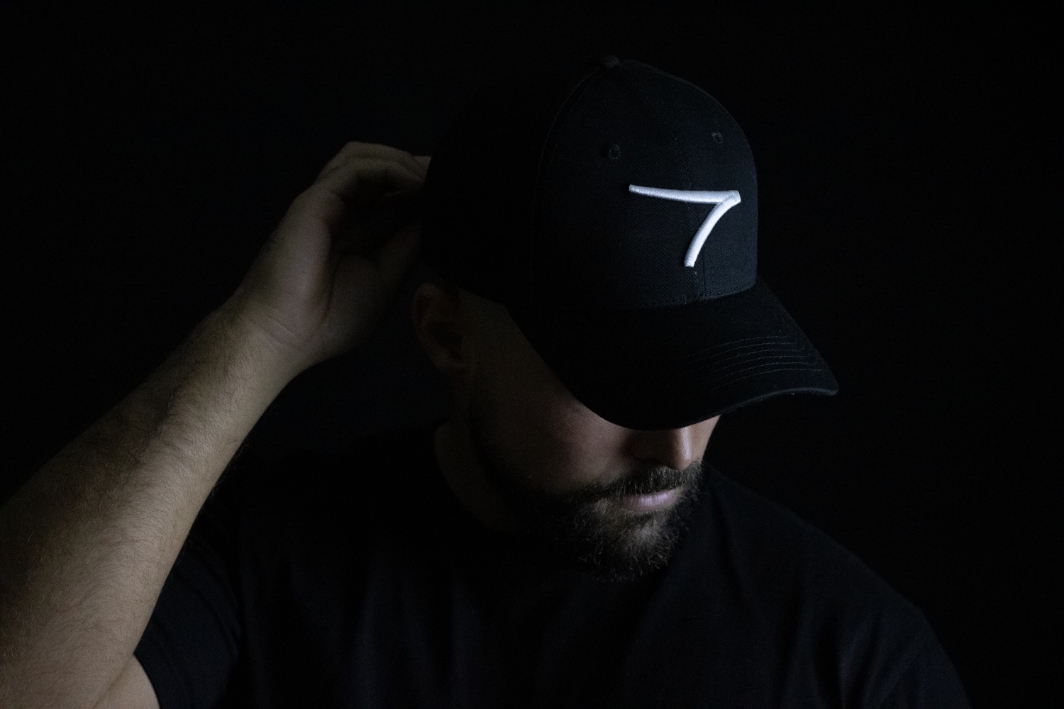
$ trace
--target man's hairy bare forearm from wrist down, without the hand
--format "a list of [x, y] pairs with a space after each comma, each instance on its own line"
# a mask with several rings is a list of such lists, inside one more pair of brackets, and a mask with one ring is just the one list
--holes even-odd
[[223, 308], [0, 509], [0, 706], [106, 690], [211, 489], [295, 374]]

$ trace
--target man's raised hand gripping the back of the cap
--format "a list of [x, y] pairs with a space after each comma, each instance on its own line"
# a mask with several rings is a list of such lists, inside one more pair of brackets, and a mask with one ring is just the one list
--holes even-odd
[[417, 254], [429, 158], [348, 143], [300, 194], [227, 303], [296, 374], [369, 336]]

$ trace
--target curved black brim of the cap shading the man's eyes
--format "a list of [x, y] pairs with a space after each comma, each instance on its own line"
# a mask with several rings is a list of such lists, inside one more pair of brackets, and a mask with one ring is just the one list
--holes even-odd
[[780, 394], [838, 391], [760, 276], [742, 293], [679, 308], [508, 310], [572, 395], [626, 428], [682, 428]]

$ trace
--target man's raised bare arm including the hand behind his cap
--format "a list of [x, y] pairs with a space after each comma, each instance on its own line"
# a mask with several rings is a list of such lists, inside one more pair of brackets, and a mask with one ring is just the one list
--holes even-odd
[[0, 508], [0, 707], [154, 703], [133, 650], [196, 514], [284, 385], [384, 313], [427, 166], [345, 146], [233, 296]]

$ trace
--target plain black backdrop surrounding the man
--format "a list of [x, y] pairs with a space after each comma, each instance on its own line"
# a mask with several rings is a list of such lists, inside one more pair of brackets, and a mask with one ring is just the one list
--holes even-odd
[[[761, 271], [842, 386], [726, 417], [710, 458], [921, 608], [976, 706], [1051, 706], [1052, 26], [971, 6], [4, 4], [0, 499], [232, 292], [346, 141], [431, 153], [499, 72], [614, 53], [743, 126]], [[445, 410], [405, 308], [286, 390], [254, 445], [328, 448]]]

